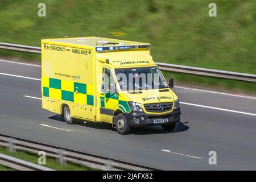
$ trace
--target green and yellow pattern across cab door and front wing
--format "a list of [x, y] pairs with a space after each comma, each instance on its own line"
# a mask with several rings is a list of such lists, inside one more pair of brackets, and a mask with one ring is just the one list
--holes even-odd
[[106, 109], [114, 109], [118, 105], [118, 108], [123, 111], [123, 113], [129, 113], [131, 111], [130, 106], [127, 101], [120, 100], [116, 93], [105, 93], [104, 97], [101, 97], [101, 107]]

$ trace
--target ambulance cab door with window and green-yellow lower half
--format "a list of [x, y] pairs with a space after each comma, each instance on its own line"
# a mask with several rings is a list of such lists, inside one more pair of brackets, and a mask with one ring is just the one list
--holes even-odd
[[118, 94], [115, 92], [115, 81], [110, 68], [102, 67], [100, 93], [100, 114], [102, 121], [112, 123], [114, 108], [118, 105]]

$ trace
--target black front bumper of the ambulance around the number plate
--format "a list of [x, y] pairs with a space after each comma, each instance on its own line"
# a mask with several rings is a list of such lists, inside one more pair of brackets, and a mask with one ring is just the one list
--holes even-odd
[[[164, 115], [146, 114], [144, 112], [131, 111], [124, 113], [130, 127], [152, 126], [152, 125], [171, 125], [180, 121], [180, 109], [174, 109], [171, 113]], [[144, 117], [144, 120], [141, 120]], [[136, 118], [136, 119], [135, 119]], [[154, 119], [168, 118], [168, 122], [154, 123]]]

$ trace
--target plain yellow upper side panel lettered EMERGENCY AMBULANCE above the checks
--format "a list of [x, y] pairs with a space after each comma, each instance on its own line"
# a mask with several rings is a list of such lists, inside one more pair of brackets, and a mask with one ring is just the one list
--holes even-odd
[[69, 46], [42, 43], [42, 77], [94, 85], [94, 52]]

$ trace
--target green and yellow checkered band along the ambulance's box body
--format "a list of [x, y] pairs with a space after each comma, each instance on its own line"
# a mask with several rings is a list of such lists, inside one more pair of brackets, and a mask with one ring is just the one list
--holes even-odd
[[49, 77], [42, 78], [42, 85], [44, 97], [81, 105], [94, 105], [93, 85]]

